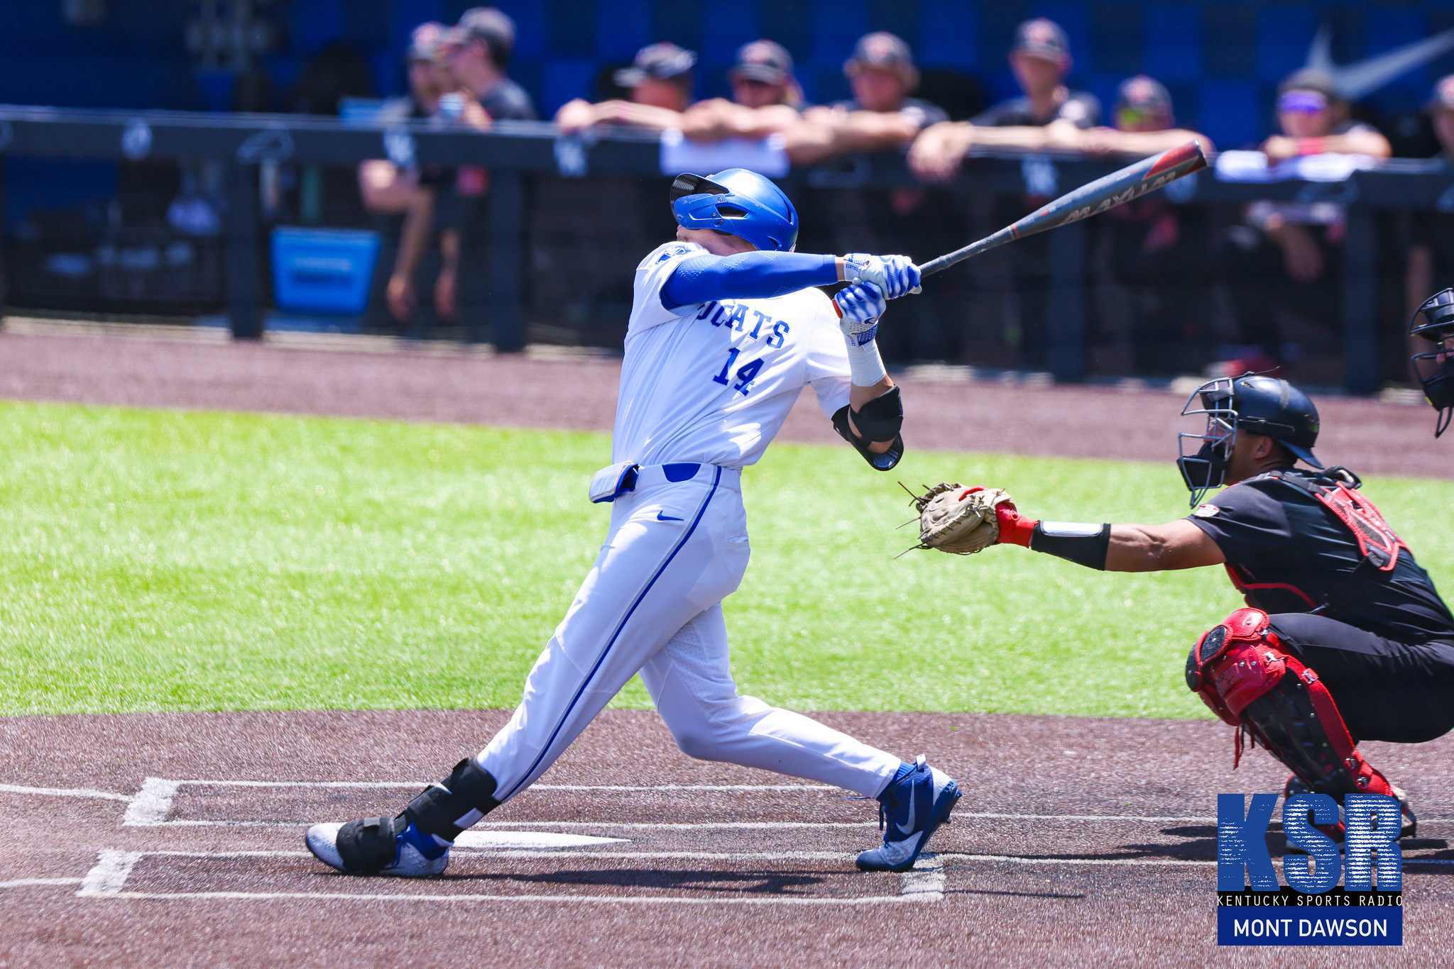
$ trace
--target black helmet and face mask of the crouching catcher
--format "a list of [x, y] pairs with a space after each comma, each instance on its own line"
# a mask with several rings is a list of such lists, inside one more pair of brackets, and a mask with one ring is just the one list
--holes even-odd
[[1191, 491], [1191, 507], [1227, 477], [1227, 461], [1237, 446], [1237, 433], [1266, 434], [1294, 458], [1322, 468], [1313, 455], [1317, 442], [1317, 408], [1287, 381], [1262, 373], [1220, 376], [1207, 381], [1186, 398], [1182, 417], [1205, 415], [1201, 434], [1176, 436], [1176, 466]]

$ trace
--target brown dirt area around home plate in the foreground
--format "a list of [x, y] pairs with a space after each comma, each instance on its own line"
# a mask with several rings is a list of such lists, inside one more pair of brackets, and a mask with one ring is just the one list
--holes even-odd
[[[832, 713], [968, 790], [933, 857], [864, 875], [872, 802], [688, 760], [612, 710], [491, 814], [439, 879], [355, 879], [302, 848], [316, 819], [397, 809], [475, 750], [487, 712], [174, 713], [0, 721], [6, 965], [1285, 965], [1216, 947], [1207, 721]], [[1454, 960], [1454, 741], [1368, 744], [1422, 808], [1405, 944]], [[1275, 835], [1272, 840], [1277, 840]], [[1323, 949], [1317, 965], [1355, 965]]]

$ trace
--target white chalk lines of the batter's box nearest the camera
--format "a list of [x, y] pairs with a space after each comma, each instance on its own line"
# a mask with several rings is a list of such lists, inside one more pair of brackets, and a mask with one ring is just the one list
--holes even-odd
[[[743, 853], [710, 853], [710, 851], [624, 851], [624, 853], [587, 853], [571, 851], [570, 857], [595, 859], [659, 859], [673, 860], [833, 860], [848, 863], [852, 854], [830, 851], [743, 851]], [[926, 904], [944, 901], [944, 860], [933, 853], [923, 853], [915, 867], [899, 876], [897, 895], [865, 895], [859, 898], [801, 898], [801, 896], [731, 896], [731, 898], [696, 898], [696, 896], [659, 896], [659, 895], [422, 895], [416, 892], [128, 892], [126, 879], [131, 870], [144, 857], [180, 857], [180, 859], [305, 859], [307, 851], [116, 851], [102, 850], [96, 857], [96, 864], [86, 877], [79, 879], [81, 886], [76, 892], [79, 898], [121, 898], [121, 899], [151, 899], [151, 901], [180, 901], [180, 899], [215, 899], [215, 901], [403, 901], [403, 902], [577, 902], [589, 905], [885, 905], [885, 904]], [[561, 857], [558, 853], [539, 851], [506, 851], [500, 857]], [[64, 879], [73, 885], [77, 879]], [[48, 883], [61, 883], [61, 879], [49, 879]], [[406, 882], [393, 882], [403, 885]]]

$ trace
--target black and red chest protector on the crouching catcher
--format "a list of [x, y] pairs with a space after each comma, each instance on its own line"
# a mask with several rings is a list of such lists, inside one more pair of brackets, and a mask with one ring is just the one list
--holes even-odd
[[[1249, 604], [1265, 607], [1259, 604], [1259, 601], [1266, 600], [1265, 593], [1278, 594], [1291, 591], [1306, 600], [1310, 612], [1336, 609], [1349, 599], [1367, 594], [1373, 583], [1393, 572], [1399, 564], [1399, 551], [1409, 551], [1407, 543], [1384, 522], [1377, 506], [1357, 490], [1362, 482], [1348, 469], [1329, 468], [1316, 477], [1297, 471], [1272, 471], [1264, 477], [1297, 488], [1328, 508], [1352, 533], [1362, 558], [1352, 572], [1345, 575], [1342, 581], [1336, 583], [1320, 597], [1314, 597], [1306, 591], [1309, 587], [1316, 587], [1317, 583], [1248, 581], [1242, 569], [1227, 565], [1232, 584], [1246, 596]], [[1268, 604], [1271, 606], [1272, 603]]]

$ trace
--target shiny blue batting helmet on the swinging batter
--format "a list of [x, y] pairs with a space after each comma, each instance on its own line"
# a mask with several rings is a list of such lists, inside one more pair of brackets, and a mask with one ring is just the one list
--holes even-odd
[[683, 228], [714, 228], [778, 253], [791, 253], [798, 243], [798, 211], [782, 189], [756, 171], [679, 174], [669, 198]]

